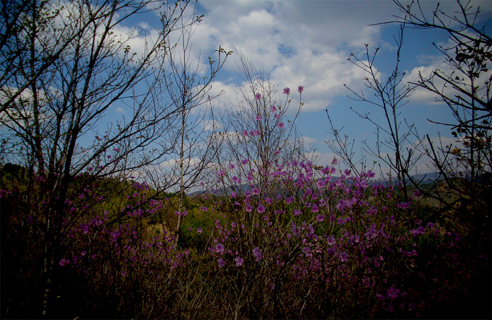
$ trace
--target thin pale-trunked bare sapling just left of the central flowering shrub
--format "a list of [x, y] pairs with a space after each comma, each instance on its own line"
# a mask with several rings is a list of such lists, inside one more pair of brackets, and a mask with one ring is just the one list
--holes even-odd
[[[193, 11], [193, 17], [195, 12]], [[198, 17], [200, 19], [201, 17]], [[183, 17], [181, 17], [183, 19]], [[166, 86], [169, 88], [169, 94], [173, 100], [173, 108], [179, 110], [179, 123], [174, 126], [176, 148], [175, 154], [179, 155], [179, 161], [176, 161], [174, 172], [179, 174], [174, 175], [179, 186], [179, 204], [177, 212], [177, 223], [175, 226], [175, 244], [179, 241], [181, 225], [183, 224], [186, 192], [191, 188], [197, 187], [198, 182], [203, 178], [202, 172], [210, 166], [210, 163], [215, 158], [217, 149], [213, 149], [212, 136], [214, 130], [206, 130], [205, 123], [207, 122], [207, 103], [212, 99], [220, 96], [209, 95], [212, 89], [211, 83], [215, 79], [215, 74], [225, 63], [227, 57], [232, 54], [232, 51], [226, 52], [219, 47], [218, 60], [213, 61], [209, 57], [210, 70], [207, 77], [199, 78], [203, 67], [200, 67], [200, 57], [193, 66], [193, 57], [191, 57], [191, 37], [194, 32], [194, 26], [188, 21], [182, 21], [182, 25], [186, 26], [181, 29], [179, 39], [179, 50], [167, 56], [172, 73], [165, 78]], [[168, 39], [168, 42], [171, 39]], [[201, 110], [197, 110], [202, 106]], [[191, 116], [191, 112], [195, 114]], [[211, 111], [212, 112], [212, 111]], [[200, 114], [201, 113], [201, 114]], [[191, 119], [192, 118], [192, 119]]]

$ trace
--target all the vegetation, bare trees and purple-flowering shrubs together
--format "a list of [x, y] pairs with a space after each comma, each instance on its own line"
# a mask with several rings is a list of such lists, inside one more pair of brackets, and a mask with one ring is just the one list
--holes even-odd
[[[389, 128], [377, 126], [395, 158], [382, 160], [398, 181], [381, 182], [353, 165], [336, 130], [349, 169], [303, 158], [286, 119], [291, 90], [277, 92], [244, 57], [246, 111], [224, 115], [236, 130], [186, 127], [230, 55], [219, 48], [198, 79], [169, 45], [177, 33], [186, 53], [200, 20], [186, 19], [187, 1], [160, 8], [161, 33], [141, 56], [131, 32], [115, 32], [152, 1], [64, 3], [2, 2], [2, 318], [491, 318], [490, 80], [475, 85], [491, 42], [468, 23], [468, 6], [466, 32], [446, 29], [456, 50], [442, 48], [456, 78], [437, 70], [415, 84], [467, 112], [450, 124], [463, 150], [422, 150], [440, 174], [424, 186], [409, 174], [414, 151], [403, 156], [416, 132], [399, 131], [411, 90], [400, 90], [398, 65], [382, 85], [374, 59], [351, 57], [387, 115]], [[400, 39], [405, 24], [448, 28], [400, 7]], [[433, 91], [435, 77], [462, 96]], [[132, 117], [101, 129], [115, 103]], [[153, 171], [166, 155], [177, 156], [174, 171]], [[188, 192], [200, 180], [202, 192]]]

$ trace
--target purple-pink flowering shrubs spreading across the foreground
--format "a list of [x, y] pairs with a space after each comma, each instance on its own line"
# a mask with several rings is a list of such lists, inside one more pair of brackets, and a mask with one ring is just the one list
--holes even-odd
[[[280, 128], [278, 118], [266, 119], [270, 127], [262, 126], [263, 118], [252, 121], [260, 129]], [[337, 165], [336, 159], [319, 167], [253, 157], [221, 163], [215, 177], [222, 192], [179, 211], [145, 183], [117, 197], [81, 175], [68, 192], [57, 239], [59, 315], [467, 318], [457, 313], [462, 300], [475, 307], [487, 301], [487, 294], [474, 299], [470, 291], [488, 288], [480, 282], [490, 274], [490, 252], [483, 250], [490, 239], [474, 249], [460, 224], [426, 214], [418, 194], [405, 197], [398, 186], [373, 181], [370, 170], [354, 176]], [[30, 188], [42, 190], [42, 184], [38, 179]], [[49, 222], [14, 209], [22, 192], [0, 190], [2, 213], [12, 213], [2, 215], [2, 228], [11, 230], [2, 232], [2, 246], [4, 240], [12, 245], [2, 247], [2, 260], [9, 259], [6, 273], [20, 270], [22, 288], [40, 292], [26, 270], [43, 265], [45, 243], [35, 238], [43, 228], [34, 226]], [[184, 219], [178, 246], [172, 225], [155, 232], [144, 223], [155, 216]]]

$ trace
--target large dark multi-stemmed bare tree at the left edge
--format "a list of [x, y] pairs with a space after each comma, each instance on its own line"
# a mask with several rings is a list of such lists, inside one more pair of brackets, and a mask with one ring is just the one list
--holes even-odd
[[[165, 72], [175, 50], [169, 37], [200, 17], [182, 19], [188, 1], [155, 8], [143, 0], [1, 5], [1, 160], [28, 168], [21, 207], [42, 222], [34, 228], [43, 243], [43, 314], [49, 315], [68, 232], [63, 220], [72, 219], [73, 226], [81, 214], [67, 214], [74, 179], [84, 172], [126, 179], [159, 163], [176, 147], [169, 132], [196, 105], [189, 101], [206, 96], [206, 89], [179, 96], [193, 88], [196, 74], [187, 74], [186, 84], [174, 83], [182, 89], [173, 94], [173, 73]], [[161, 27], [152, 32], [124, 26], [130, 17], [158, 12]], [[220, 63], [210, 65], [213, 79]], [[123, 112], [120, 120], [116, 110]]]

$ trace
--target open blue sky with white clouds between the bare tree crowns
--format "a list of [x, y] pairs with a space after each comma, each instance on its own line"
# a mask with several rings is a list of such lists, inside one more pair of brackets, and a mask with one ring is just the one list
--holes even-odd
[[[435, 1], [423, 2], [424, 12], [430, 14], [436, 4]], [[472, 4], [479, 5], [483, 11], [477, 25], [488, 24], [490, 32], [491, 2], [474, 1]], [[456, 2], [443, 1], [441, 8], [452, 14], [458, 6]], [[353, 53], [364, 60], [365, 43], [369, 44], [370, 53], [380, 47], [374, 64], [383, 79], [393, 70], [394, 37], [399, 26], [370, 26], [391, 21], [393, 15], [400, 13], [392, 1], [201, 0], [196, 10], [196, 14], [204, 17], [192, 37], [193, 50], [195, 57], [201, 54], [203, 64], [207, 64], [207, 57], [220, 45], [228, 51], [240, 50], [255, 65], [262, 64], [280, 91], [291, 88], [293, 103], [299, 98], [297, 87], [304, 86], [304, 109], [296, 125], [306, 143], [316, 149], [321, 164], [333, 158], [325, 143], [331, 139], [325, 109], [334, 126], [343, 127], [342, 133], [350, 140], [355, 139], [356, 150], [365, 140], [374, 145], [374, 126], [359, 118], [351, 107], [360, 113], [369, 112], [371, 120], [378, 123], [383, 121], [381, 109], [351, 100], [343, 84], [357, 92], [364, 90], [364, 78], [368, 74], [347, 58]], [[405, 29], [400, 59], [400, 69], [406, 72], [405, 82], [415, 81], [419, 70], [430, 74], [431, 70], [446, 67], [432, 42], [446, 44], [447, 34]], [[237, 59], [238, 55], [233, 54], [214, 82], [214, 92], [225, 92], [215, 102], [221, 108], [230, 107], [230, 99], [235, 100], [234, 88], [242, 81], [236, 73]], [[452, 141], [449, 129], [427, 121], [446, 121], [451, 116], [444, 105], [435, 103], [434, 97], [426, 92], [414, 92], [401, 109], [400, 117], [414, 123], [422, 135], [430, 134], [435, 138], [440, 132], [446, 141]], [[424, 167], [421, 170], [426, 171]]]

